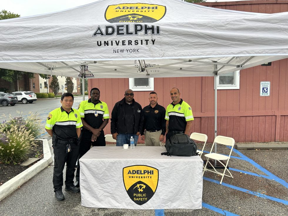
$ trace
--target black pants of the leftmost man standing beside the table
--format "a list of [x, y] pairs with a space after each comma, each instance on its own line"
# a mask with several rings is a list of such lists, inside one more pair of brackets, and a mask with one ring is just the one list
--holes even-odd
[[53, 170], [53, 187], [54, 192], [62, 190], [63, 186], [63, 169], [66, 163], [66, 187], [70, 187], [74, 182], [75, 165], [79, 154], [79, 145], [70, 144], [71, 152], [66, 153], [66, 144], [53, 144], [54, 151], [54, 170]]

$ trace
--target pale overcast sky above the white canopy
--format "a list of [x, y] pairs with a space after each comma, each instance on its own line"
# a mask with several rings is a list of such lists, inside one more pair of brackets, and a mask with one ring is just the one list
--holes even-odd
[[[33, 15], [38, 15], [38, 14], [46, 14], [46, 13], [51, 13], [51, 12], [56, 12], [56, 11], [62, 11], [65, 9], [70, 9], [70, 8], [74, 8], [77, 6], [89, 4], [95, 1], [96, 0], [81, 0], [81, 1], [1, 0], [0, 11], [4, 9], [14, 14], [19, 14], [21, 17], [24, 17], [24, 16], [33, 16]], [[215, 0], [207, 0], [207, 2], [208, 1], [214, 2]], [[220, 2], [220, 1], [227, 1], [227, 0], [217, 0], [217, 1]], [[228, 0], [228, 1], [234, 1], [234, 0]], [[111, 2], [113, 1], [111, 0]]]

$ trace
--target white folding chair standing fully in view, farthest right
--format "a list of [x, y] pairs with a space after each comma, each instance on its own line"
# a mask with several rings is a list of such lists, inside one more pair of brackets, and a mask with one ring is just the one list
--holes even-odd
[[[231, 146], [231, 150], [230, 150], [229, 156], [227, 156], [227, 155], [222, 155], [222, 154], [219, 154], [219, 153], [211, 153], [211, 152], [212, 152], [212, 149], [213, 149], [213, 146], [214, 146], [215, 143]], [[228, 162], [229, 162], [229, 159], [230, 159], [230, 156], [231, 156], [231, 153], [232, 153], [234, 144], [235, 144], [235, 140], [234, 140], [233, 138], [231, 138], [231, 137], [217, 136], [217, 137], [215, 138], [213, 144], [212, 144], [212, 148], [211, 148], [211, 150], [210, 150], [210, 153], [204, 155], [204, 156], [207, 158], [207, 162], [206, 162], [206, 164], [205, 164], [205, 167], [204, 167], [202, 176], [204, 175], [205, 171], [210, 171], [210, 172], [212, 172], [212, 173], [217, 173], [217, 174], [219, 174], [219, 175], [222, 175], [220, 184], [222, 183], [222, 180], [223, 180], [223, 178], [224, 178], [224, 175], [227, 176], [227, 177], [233, 178], [232, 174], [231, 174], [230, 171], [227, 169], [227, 165], [228, 165]], [[217, 160], [220, 164], [222, 164], [222, 165], [225, 167], [225, 168], [224, 168], [224, 172], [223, 172], [223, 173], [218, 172], [218, 171], [214, 168], [214, 166], [210, 163], [209, 159]], [[221, 160], [227, 160], [227, 161], [226, 161], [226, 165], [224, 165], [224, 163], [222, 163]], [[211, 167], [214, 169], [214, 171], [213, 171], [213, 170], [208, 170], [208, 169], [206, 168], [208, 163], [211, 165]], [[226, 170], [228, 171], [228, 173], [229, 173], [230, 175], [226, 175], [226, 174], [225, 174]]]

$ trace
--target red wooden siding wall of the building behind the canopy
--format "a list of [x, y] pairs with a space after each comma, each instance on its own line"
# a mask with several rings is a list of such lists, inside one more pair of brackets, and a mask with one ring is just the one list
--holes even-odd
[[[261, 4], [264, 2], [264, 4]], [[199, 3], [222, 9], [278, 13], [288, 11], [287, 1], [237, 1]], [[270, 81], [270, 96], [259, 96], [260, 81]], [[240, 71], [240, 89], [218, 90], [217, 135], [233, 137], [236, 142], [288, 141], [288, 59]], [[88, 89], [97, 87], [100, 100], [107, 103], [110, 115], [114, 104], [129, 88], [128, 78], [97, 78], [88, 81]], [[154, 78], [158, 103], [171, 103], [170, 89], [177, 87], [181, 98], [192, 107], [195, 120], [191, 132], [205, 133], [214, 139], [214, 78]], [[150, 91], [134, 92], [134, 99], [149, 104]], [[110, 134], [110, 122], [104, 130]]]

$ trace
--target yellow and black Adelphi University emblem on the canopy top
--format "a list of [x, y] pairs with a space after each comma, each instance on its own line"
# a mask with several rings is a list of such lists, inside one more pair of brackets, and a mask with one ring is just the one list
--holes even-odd
[[109, 5], [105, 19], [110, 23], [153, 23], [165, 16], [166, 6], [157, 4], [116, 4]]

